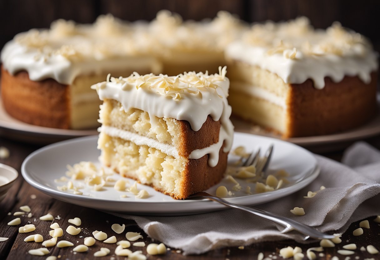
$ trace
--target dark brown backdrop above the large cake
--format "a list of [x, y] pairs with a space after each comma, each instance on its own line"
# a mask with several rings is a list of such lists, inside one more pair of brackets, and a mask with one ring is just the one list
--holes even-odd
[[316, 28], [334, 21], [359, 32], [380, 47], [380, 0], [0, 0], [0, 48], [16, 33], [49, 27], [56, 19], [92, 23], [111, 13], [123, 20], [152, 20], [168, 9], [184, 19], [213, 18], [219, 10], [247, 22], [309, 17]]

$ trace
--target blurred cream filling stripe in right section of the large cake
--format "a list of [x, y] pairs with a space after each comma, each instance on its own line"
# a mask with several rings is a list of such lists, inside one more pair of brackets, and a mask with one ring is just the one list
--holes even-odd
[[263, 89], [261, 87], [256, 87], [256, 86], [253, 86], [253, 85], [250, 85], [247, 83], [236, 82], [236, 81], [232, 82], [231, 86], [236, 91], [242, 92], [244, 94], [251, 95], [253, 97], [261, 98], [261, 99], [266, 100], [270, 103], [273, 103], [277, 106], [280, 106], [284, 109], [287, 107], [285, 98], [279, 97], [279, 96], [275, 95], [274, 93], [272, 93], [266, 89]]

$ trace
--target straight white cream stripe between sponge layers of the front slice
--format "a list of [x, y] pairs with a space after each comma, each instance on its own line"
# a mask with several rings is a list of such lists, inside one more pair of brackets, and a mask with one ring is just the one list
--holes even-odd
[[127, 130], [122, 130], [122, 129], [119, 129], [116, 127], [110, 127], [110, 126], [106, 126], [106, 125], [102, 125], [101, 127], [99, 127], [98, 131], [104, 132], [107, 135], [112, 136], [112, 137], [119, 137], [119, 138], [122, 138], [124, 140], [131, 141], [131, 142], [133, 142], [139, 146], [146, 145], [149, 147], [153, 147], [153, 148], [158, 149], [161, 152], [163, 152], [167, 155], [171, 155], [175, 158], [179, 157], [176, 147], [174, 147], [170, 144], [161, 143], [161, 142], [159, 142], [153, 138], [149, 138], [146, 136], [139, 135], [137, 133], [129, 132]]

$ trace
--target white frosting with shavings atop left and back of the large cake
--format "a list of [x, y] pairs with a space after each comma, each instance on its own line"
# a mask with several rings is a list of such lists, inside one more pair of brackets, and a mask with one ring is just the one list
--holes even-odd
[[92, 73], [140, 68], [160, 73], [156, 58], [175, 59], [194, 52], [198, 60], [204, 53], [222, 60], [225, 46], [245, 29], [226, 12], [207, 22], [182, 22], [169, 11], [160, 11], [150, 23], [122, 22], [111, 15], [99, 16], [90, 25], [61, 19], [50, 29], [16, 35], [3, 48], [1, 61], [12, 75], [25, 70], [33, 81], [52, 78], [62, 84]]

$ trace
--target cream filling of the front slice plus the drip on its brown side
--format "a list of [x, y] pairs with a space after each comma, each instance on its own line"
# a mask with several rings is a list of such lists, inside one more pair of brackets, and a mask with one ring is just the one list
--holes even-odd
[[[128, 140], [133, 143], [135, 143], [138, 146], [146, 145], [149, 147], [153, 147], [155, 149], [160, 150], [161, 152], [171, 155], [174, 158], [178, 158], [180, 155], [178, 154], [178, 150], [175, 146], [171, 144], [165, 144], [161, 143], [153, 138], [149, 138], [146, 136], [139, 135], [137, 133], [133, 133], [127, 130], [122, 130], [116, 127], [106, 126], [102, 125], [98, 128], [99, 132], [106, 133], [107, 135], [111, 137], [117, 137], [122, 138], [123, 140]], [[202, 158], [204, 155], [209, 155], [208, 164], [211, 167], [215, 167], [219, 162], [219, 151], [220, 147], [223, 145], [223, 141], [228, 138], [228, 133], [224, 130], [223, 127], [220, 128], [219, 132], [219, 141], [218, 143], [212, 144], [211, 146], [202, 148], [202, 149], [196, 149], [191, 152], [188, 159], [199, 159]], [[226, 149], [228, 147], [224, 147], [223, 152], [228, 152], [229, 149]]]

